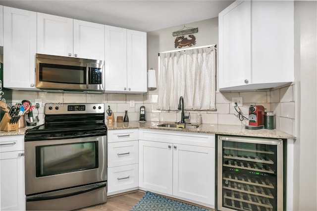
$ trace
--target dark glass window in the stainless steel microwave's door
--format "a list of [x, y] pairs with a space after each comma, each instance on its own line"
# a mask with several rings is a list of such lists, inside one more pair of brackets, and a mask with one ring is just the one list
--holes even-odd
[[40, 63], [39, 73], [44, 82], [86, 84], [86, 66]]

